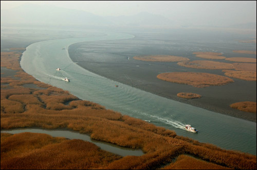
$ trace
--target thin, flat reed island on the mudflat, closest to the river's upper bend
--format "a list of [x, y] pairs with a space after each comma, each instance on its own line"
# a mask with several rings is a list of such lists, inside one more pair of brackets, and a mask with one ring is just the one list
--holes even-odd
[[189, 61], [189, 58], [179, 57], [173, 55], [144, 55], [144, 56], [135, 56], [133, 57], [137, 60], [142, 61], [159, 61], [159, 62], [178, 62], [178, 61]]

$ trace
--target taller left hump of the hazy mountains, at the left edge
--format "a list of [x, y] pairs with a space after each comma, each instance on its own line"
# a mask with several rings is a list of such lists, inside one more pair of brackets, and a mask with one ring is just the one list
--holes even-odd
[[109, 25], [103, 17], [80, 10], [58, 8], [49, 5], [24, 4], [1, 10], [1, 24], [46, 25]]

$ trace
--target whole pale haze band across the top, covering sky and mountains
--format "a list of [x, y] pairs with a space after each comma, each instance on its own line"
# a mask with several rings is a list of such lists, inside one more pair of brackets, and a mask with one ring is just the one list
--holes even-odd
[[256, 1], [1, 1], [1, 26], [32, 23], [256, 29]]

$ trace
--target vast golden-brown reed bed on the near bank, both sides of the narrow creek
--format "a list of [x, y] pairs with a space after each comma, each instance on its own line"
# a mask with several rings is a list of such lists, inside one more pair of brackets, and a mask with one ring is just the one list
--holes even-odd
[[[22, 74], [21, 81], [26, 81], [26, 78], [31, 80], [31, 77]], [[31, 95], [38, 100], [35, 98], [23, 99], [20, 95]], [[70, 99], [74, 100], [65, 103]], [[23, 110], [17, 113], [9, 111], [6, 109], [9, 105], [6, 100], [20, 103]], [[47, 107], [50, 102], [61, 104], [58, 105], [60, 110]], [[172, 162], [173, 158], [185, 153], [230, 168], [256, 169], [256, 156], [254, 155], [226, 151], [211, 144], [177, 136], [174, 131], [106, 110], [94, 102], [78, 100], [75, 96], [59, 88], [49, 86], [47, 89], [39, 90], [17, 85], [13, 86], [13, 89], [1, 89], [1, 129], [26, 127], [75, 130], [89, 134], [96, 140], [141, 148], [145, 154], [120, 158], [107, 152], [103, 153], [93, 144], [81, 140], [60, 139], [63, 141], [51, 144], [48, 142], [49, 140], [57, 139], [47, 137], [48, 139], [45, 140], [42, 138], [46, 138], [46, 136], [38, 136], [32, 142], [24, 144], [17, 143], [17, 141], [22, 141], [22, 139], [29, 141], [30, 137], [20, 134], [21, 139], [9, 140], [12, 139], [9, 138], [12, 136], [4, 135], [3, 139], [1, 136], [1, 169], [155, 169]], [[15, 136], [17, 137], [17, 135]], [[34, 145], [42, 147], [35, 148]], [[13, 148], [21, 151], [21, 155], [14, 153], [16, 151]], [[6, 156], [8, 154], [9, 156]], [[3, 155], [5, 155], [4, 158]]]

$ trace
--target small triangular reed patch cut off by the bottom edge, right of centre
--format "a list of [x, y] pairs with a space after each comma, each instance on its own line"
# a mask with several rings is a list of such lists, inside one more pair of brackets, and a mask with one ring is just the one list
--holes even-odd
[[187, 155], [180, 155], [176, 162], [160, 169], [232, 169], [214, 163], [199, 160]]

